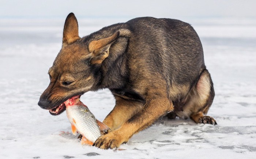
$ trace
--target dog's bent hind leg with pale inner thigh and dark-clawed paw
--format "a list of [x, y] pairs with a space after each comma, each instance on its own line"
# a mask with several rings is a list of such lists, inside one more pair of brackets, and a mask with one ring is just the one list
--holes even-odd
[[211, 116], [205, 116], [214, 99], [214, 88], [210, 73], [204, 70], [192, 89], [190, 98], [184, 106], [183, 112], [177, 112], [178, 116], [187, 116], [196, 123], [216, 125], [217, 122]]

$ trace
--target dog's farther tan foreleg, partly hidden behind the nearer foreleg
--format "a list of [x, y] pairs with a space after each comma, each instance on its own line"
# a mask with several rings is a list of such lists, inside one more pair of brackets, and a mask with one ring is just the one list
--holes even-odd
[[130, 119], [136, 112], [138, 112], [143, 107], [143, 103], [141, 102], [126, 100], [118, 96], [115, 96], [115, 98], [116, 106], [103, 120], [103, 123], [110, 128], [108, 132], [114, 131], [119, 128], [125, 121]]

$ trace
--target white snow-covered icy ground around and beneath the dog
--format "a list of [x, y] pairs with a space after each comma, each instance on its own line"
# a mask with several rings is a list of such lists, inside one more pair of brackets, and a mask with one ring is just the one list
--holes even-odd
[[[128, 19], [78, 20], [83, 36]], [[183, 20], [202, 40], [216, 93], [208, 115], [218, 125], [163, 118], [122, 150], [101, 150], [67, 133], [65, 113], [52, 116], [37, 105], [61, 47], [64, 19], [0, 19], [0, 158], [255, 158], [255, 19]], [[114, 106], [108, 90], [88, 92], [82, 101], [101, 121]]]

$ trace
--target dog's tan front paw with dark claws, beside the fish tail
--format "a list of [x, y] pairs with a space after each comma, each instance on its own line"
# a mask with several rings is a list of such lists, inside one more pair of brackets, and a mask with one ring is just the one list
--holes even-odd
[[102, 149], [108, 149], [108, 148], [113, 149], [113, 148], [117, 148], [122, 143], [123, 143], [123, 138], [120, 135], [118, 135], [118, 133], [110, 132], [109, 134], [99, 137], [95, 141], [93, 146], [96, 146]]

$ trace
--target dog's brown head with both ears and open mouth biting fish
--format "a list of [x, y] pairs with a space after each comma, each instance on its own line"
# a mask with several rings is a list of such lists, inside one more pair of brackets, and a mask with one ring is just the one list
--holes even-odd
[[85, 38], [78, 35], [74, 13], [70, 13], [64, 25], [63, 46], [48, 72], [50, 84], [38, 105], [52, 115], [59, 115], [65, 110], [66, 100], [97, 89], [99, 68], [118, 36], [119, 32], [115, 32], [109, 37], [85, 42]]

